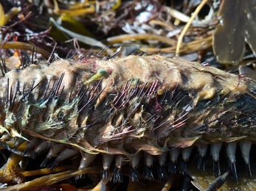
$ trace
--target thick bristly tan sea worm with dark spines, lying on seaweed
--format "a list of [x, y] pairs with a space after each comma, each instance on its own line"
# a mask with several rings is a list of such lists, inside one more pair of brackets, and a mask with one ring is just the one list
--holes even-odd
[[235, 154], [240, 146], [252, 179], [255, 87], [245, 76], [179, 57], [90, 56], [30, 65], [0, 80], [1, 146], [30, 158], [46, 152], [40, 165], [49, 173], [66, 159], [79, 159], [78, 170], [100, 164], [101, 179], [112, 182], [122, 182], [127, 164], [130, 181], [186, 175], [194, 151], [198, 167], [210, 153], [218, 177], [225, 173], [219, 160], [224, 146], [239, 181]]

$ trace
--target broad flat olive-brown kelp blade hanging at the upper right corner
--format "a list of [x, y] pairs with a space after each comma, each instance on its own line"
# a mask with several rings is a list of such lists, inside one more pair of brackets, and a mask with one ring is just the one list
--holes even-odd
[[[220, 24], [213, 35], [213, 50], [219, 62], [237, 65], [245, 51], [245, 42], [255, 54], [255, 1], [222, 1]], [[236, 12], [236, 14], [232, 14]], [[231, 16], [232, 15], [232, 16]]]

